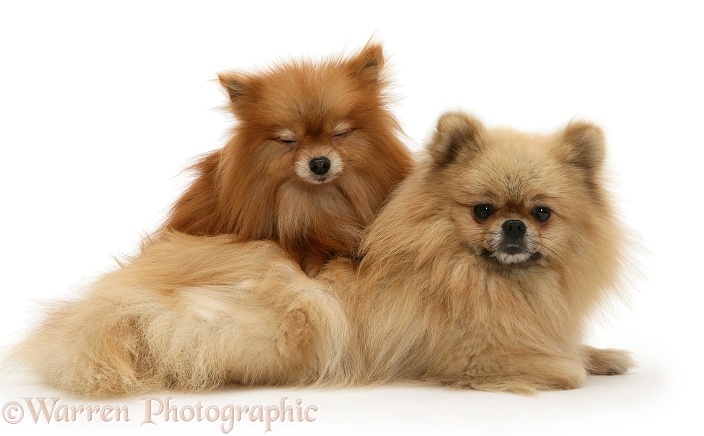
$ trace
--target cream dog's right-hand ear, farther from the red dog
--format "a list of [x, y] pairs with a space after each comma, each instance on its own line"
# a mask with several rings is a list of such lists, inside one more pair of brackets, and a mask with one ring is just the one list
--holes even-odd
[[562, 133], [557, 151], [563, 162], [594, 172], [601, 168], [606, 159], [604, 132], [591, 123], [571, 122]]

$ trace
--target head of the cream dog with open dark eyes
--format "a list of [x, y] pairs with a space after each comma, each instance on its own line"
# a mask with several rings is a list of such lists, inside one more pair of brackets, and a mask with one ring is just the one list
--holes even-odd
[[598, 186], [604, 135], [592, 124], [526, 134], [447, 113], [428, 151], [438, 207], [459, 243], [490, 265], [554, 266], [610, 219]]

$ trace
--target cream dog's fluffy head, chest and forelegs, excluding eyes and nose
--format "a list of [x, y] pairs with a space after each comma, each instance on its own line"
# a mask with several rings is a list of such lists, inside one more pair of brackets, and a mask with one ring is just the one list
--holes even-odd
[[[624, 262], [602, 131], [525, 134], [448, 113], [428, 151], [363, 242], [351, 318], [364, 379], [530, 393], [632, 366], [626, 352], [582, 345]], [[524, 223], [525, 260], [497, 252], [507, 221]]]

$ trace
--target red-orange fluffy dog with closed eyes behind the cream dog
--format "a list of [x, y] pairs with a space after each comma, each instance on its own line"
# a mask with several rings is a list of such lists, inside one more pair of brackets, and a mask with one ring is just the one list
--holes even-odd
[[353, 254], [412, 165], [386, 108], [383, 64], [370, 44], [349, 59], [221, 74], [238, 124], [193, 167], [164, 230], [273, 240], [308, 273]]

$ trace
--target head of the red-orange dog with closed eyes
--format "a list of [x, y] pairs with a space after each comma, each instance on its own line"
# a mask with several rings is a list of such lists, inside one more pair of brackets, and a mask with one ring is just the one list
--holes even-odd
[[381, 46], [369, 44], [347, 59], [289, 62], [261, 74], [220, 74], [239, 121], [238, 144], [251, 148], [251, 164], [258, 171], [287, 176], [291, 183], [321, 185], [346, 172], [368, 172], [385, 162], [398, 165], [387, 159], [388, 138], [378, 138], [398, 129], [385, 109], [383, 65]]

